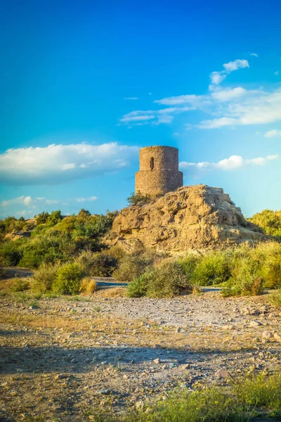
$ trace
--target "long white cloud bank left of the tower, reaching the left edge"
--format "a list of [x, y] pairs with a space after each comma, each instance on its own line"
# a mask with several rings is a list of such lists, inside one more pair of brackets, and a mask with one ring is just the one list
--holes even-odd
[[115, 142], [8, 149], [0, 155], [0, 182], [59, 184], [71, 179], [113, 173], [129, 165], [137, 154], [138, 147]]

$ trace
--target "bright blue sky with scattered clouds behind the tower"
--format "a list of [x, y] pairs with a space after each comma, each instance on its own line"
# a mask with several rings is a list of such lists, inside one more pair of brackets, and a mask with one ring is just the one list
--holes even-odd
[[6, 1], [0, 217], [120, 209], [138, 148], [184, 184], [281, 208], [279, 1]]

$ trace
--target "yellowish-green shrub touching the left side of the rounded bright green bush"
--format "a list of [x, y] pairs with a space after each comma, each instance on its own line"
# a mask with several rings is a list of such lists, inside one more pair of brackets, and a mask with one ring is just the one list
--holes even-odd
[[53, 282], [58, 272], [58, 264], [47, 264], [42, 262], [34, 271], [32, 290], [39, 293], [47, 293], [52, 290]]

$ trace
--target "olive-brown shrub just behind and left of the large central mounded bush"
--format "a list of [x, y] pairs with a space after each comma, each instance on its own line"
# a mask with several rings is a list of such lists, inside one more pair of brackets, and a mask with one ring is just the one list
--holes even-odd
[[121, 282], [133, 281], [152, 266], [153, 260], [138, 255], [125, 255], [112, 276]]

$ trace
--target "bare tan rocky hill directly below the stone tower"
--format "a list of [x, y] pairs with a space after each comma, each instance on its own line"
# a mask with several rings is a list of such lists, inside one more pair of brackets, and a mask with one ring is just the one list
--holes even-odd
[[197, 185], [183, 186], [151, 203], [124, 208], [113, 222], [107, 243], [126, 250], [143, 245], [178, 253], [267, 238], [244, 219], [222, 188]]

